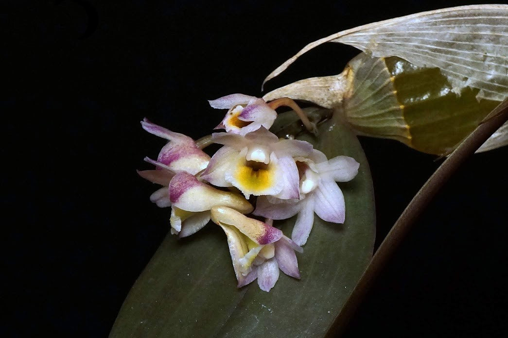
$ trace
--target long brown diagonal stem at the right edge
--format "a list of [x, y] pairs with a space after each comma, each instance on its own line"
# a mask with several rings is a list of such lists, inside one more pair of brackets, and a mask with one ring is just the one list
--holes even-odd
[[402, 215], [400, 215], [399, 219], [395, 222], [385, 240], [372, 257], [370, 264], [365, 269], [360, 281], [347, 299], [342, 311], [335, 319], [327, 336], [336, 336], [344, 332], [347, 323], [355, 314], [362, 299], [371, 287], [372, 282], [382, 271], [387, 261], [392, 257], [411, 225], [414, 224], [417, 217], [429, 204], [429, 201], [436, 195], [444, 183], [448, 181], [450, 176], [457, 171], [460, 164], [474, 154], [474, 152], [508, 120], [508, 98], [497, 106], [488, 116], [489, 118], [484, 119], [457, 149], [444, 160], [415, 197], [413, 197], [404, 212], [402, 212]]

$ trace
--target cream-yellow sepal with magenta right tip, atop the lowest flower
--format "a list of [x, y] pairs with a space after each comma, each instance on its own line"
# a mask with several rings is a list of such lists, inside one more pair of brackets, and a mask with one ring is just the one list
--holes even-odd
[[236, 227], [251, 241], [259, 245], [266, 245], [278, 241], [282, 231], [256, 219], [242, 215], [228, 207], [213, 207], [211, 209], [212, 221], [218, 225]]

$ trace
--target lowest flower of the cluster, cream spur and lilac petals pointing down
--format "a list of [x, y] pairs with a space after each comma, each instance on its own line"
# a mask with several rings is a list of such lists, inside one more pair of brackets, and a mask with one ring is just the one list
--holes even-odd
[[273, 226], [226, 208], [211, 209], [213, 222], [223, 228], [238, 287], [255, 279], [263, 291], [270, 291], [283, 273], [300, 278], [295, 250], [302, 248]]

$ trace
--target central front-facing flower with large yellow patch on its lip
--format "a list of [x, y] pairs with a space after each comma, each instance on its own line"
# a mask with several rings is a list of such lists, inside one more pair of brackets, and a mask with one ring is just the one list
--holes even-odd
[[308, 156], [312, 145], [305, 141], [280, 140], [265, 127], [245, 136], [227, 132], [212, 134], [223, 144], [201, 176], [219, 187], [234, 186], [245, 195], [299, 198], [298, 168], [293, 157]]

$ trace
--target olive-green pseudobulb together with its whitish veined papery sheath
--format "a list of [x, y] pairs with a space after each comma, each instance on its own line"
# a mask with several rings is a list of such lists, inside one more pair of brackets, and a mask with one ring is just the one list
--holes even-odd
[[[508, 96], [508, 6], [440, 9], [344, 30], [325, 42], [361, 53], [336, 76], [300, 80], [263, 98], [288, 96], [334, 108], [358, 134], [447, 155]], [[478, 151], [508, 144], [501, 127]]]

